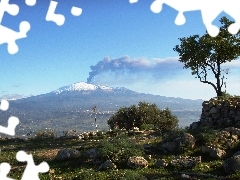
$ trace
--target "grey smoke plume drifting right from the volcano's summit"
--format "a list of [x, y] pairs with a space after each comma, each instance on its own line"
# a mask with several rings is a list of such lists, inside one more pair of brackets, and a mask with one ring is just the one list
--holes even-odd
[[91, 72], [87, 79], [88, 83], [96, 83], [99, 79], [109, 78], [111, 80], [125, 80], [128, 82], [171, 78], [182, 71], [183, 65], [177, 57], [148, 60], [146, 58], [130, 58], [123, 56], [111, 59], [105, 57], [96, 65], [90, 66]]

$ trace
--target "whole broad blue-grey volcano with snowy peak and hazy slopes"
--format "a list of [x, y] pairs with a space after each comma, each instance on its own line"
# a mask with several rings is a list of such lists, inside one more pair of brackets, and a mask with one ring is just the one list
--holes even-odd
[[107, 119], [114, 112], [140, 101], [155, 103], [160, 109], [168, 107], [178, 117], [181, 127], [199, 120], [203, 102], [79, 82], [46, 94], [10, 100], [9, 110], [0, 112], [0, 121], [6, 125], [5, 119], [17, 116], [19, 134], [45, 129], [57, 133], [69, 129], [87, 131], [95, 128], [93, 107], [96, 106], [98, 128], [107, 129]]

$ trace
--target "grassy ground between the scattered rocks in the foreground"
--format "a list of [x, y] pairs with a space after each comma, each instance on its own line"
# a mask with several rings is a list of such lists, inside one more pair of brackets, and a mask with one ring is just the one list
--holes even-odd
[[[46, 138], [29, 138], [23, 139], [0, 139], [1, 155], [0, 162], [8, 162], [12, 169], [8, 174], [9, 177], [14, 179], [21, 179], [23, 171], [26, 167], [26, 163], [18, 162], [16, 160], [16, 153], [19, 150], [24, 150], [28, 154], [32, 154], [35, 164], [38, 165], [42, 161], [45, 161], [50, 166], [50, 171], [44, 174], [40, 174], [40, 179], [46, 180], [101, 180], [101, 179], [119, 179], [119, 180], [158, 180], [158, 179], [179, 179], [178, 172], [186, 172], [193, 174], [211, 174], [213, 176], [225, 177], [219, 179], [240, 179], [240, 173], [228, 175], [224, 173], [222, 162], [224, 160], [215, 160], [200, 152], [200, 147], [207, 135], [203, 135], [202, 142], [196, 145], [192, 150], [182, 149], [176, 154], [163, 154], [158, 150], [163, 140], [173, 138], [177, 133], [174, 132], [168, 136], [162, 136], [157, 132], [145, 132], [145, 133], [129, 133], [128, 135], [117, 136], [117, 134], [101, 134], [94, 136], [88, 140], [67, 140], [54, 137]], [[214, 132], [211, 132], [214, 133]], [[100, 134], [100, 133], [99, 133]], [[197, 135], [197, 134], [196, 134]], [[208, 134], [209, 136], [211, 134]], [[169, 137], [170, 136], [170, 137]], [[199, 137], [201, 137], [199, 135]], [[122, 138], [122, 139], [120, 139]], [[111, 139], [111, 143], [114, 144], [113, 155], [110, 157], [117, 157], [121, 161], [117, 163], [117, 170], [97, 171], [99, 164], [94, 163], [91, 159], [84, 157], [84, 152], [90, 148], [99, 148], [102, 152], [109, 152], [110, 144], [108, 139]], [[130, 140], [130, 141], [128, 141]], [[125, 144], [118, 144], [124, 142]], [[125, 151], [129, 153], [138, 151], [136, 153], [142, 154], [147, 158], [148, 154], [144, 153], [142, 147], [144, 144], [150, 144], [153, 148], [151, 153], [151, 159], [148, 160], [149, 166], [144, 169], [131, 169], [126, 165], [126, 158], [128, 154], [118, 154], [117, 148], [124, 147]], [[139, 146], [140, 145], [140, 146]], [[236, 146], [236, 150], [239, 146]], [[80, 151], [80, 157], [69, 161], [57, 161], [55, 159], [58, 150], [63, 148], [73, 148]], [[194, 168], [180, 168], [173, 167], [171, 165], [165, 168], [157, 168], [154, 163], [157, 159], [166, 159], [170, 161], [174, 155], [188, 155], [188, 156], [202, 156], [202, 163]], [[109, 157], [108, 157], [109, 158]], [[196, 176], [197, 177], [197, 176]], [[192, 178], [194, 179], [194, 178]], [[199, 176], [196, 179], [217, 179], [214, 177]]]

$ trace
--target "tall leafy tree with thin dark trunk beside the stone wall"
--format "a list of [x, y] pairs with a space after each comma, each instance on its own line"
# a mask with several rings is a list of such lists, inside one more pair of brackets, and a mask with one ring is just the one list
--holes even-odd
[[[230, 34], [228, 27], [233, 21], [226, 17], [220, 19], [222, 26], [219, 35], [211, 37], [207, 32], [203, 36], [193, 35], [179, 38], [180, 45], [173, 48], [179, 54], [179, 61], [184, 68], [190, 68], [192, 75], [200, 82], [210, 84], [216, 91], [217, 97], [223, 95], [222, 87], [226, 83], [225, 75], [229, 69], [223, 69], [222, 64], [236, 60], [240, 56], [240, 32]], [[209, 72], [213, 73], [215, 83], [209, 81]]]

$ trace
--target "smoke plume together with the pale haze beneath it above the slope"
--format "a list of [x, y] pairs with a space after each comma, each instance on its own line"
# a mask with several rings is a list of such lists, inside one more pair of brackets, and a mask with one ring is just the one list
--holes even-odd
[[[114, 63], [117, 63], [114, 65]], [[227, 92], [239, 94], [240, 89], [240, 61], [232, 61], [224, 67], [231, 68], [226, 76]], [[214, 88], [204, 84], [191, 75], [189, 69], [183, 69], [178, 57], [169, 58], [130, 58], [128, 56], [117, 59], [106, 59], [92, 66], [90, 79], [94, 84], [113, 87], [124, 86], [137, 92], [158, 94], [169, 97], [208, 100], [216, 96]], [[208, 80], [215, 83], [211, 73]], [[224, 90], [224, 89], [223, 89]]]

